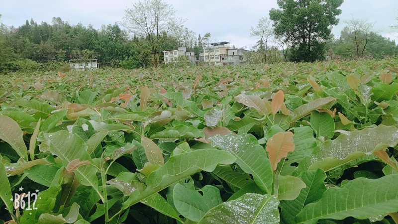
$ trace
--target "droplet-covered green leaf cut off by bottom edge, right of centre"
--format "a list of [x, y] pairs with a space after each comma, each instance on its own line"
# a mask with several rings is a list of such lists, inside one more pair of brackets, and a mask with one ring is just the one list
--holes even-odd
[[199, 224], [276, 224], [278, 205], [273, 195], [245, 194], [209, 210]]

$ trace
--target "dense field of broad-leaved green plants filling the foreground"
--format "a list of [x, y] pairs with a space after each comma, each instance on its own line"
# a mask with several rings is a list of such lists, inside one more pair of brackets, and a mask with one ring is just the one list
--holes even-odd
[[0, 223], [394, 224], [398, 59], [11, 73]]

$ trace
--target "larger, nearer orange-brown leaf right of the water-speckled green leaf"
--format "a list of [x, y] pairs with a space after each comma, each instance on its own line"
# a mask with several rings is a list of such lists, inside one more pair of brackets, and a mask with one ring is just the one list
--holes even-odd
[[278, 132], [267, 141], [266, 151], [273, 170], [277, 169], [279, 161], [295, 150], [293, 133], [290, 131]]

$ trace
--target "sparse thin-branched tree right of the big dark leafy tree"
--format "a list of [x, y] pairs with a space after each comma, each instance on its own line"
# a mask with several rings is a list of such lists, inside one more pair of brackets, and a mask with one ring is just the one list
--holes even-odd
[[355, 52], [357, 57], [363, 57], [366, 47], [370, 43], [376, 43], [380, 41], [378, 35], [372, 31], [373, 24], [366, 20], [354, 19], [346, 21], [348, 25], [348, 37], [355, 45]]

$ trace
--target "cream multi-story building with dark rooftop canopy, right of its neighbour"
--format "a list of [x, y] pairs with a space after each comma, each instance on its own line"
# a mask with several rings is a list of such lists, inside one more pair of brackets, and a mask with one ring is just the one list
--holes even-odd
[[210, 66], [241, 64], [243, 63], [243, 49], [234, 49], [229, 46], [229, 42], [210, 43], [203, 47], [203, 61]]

